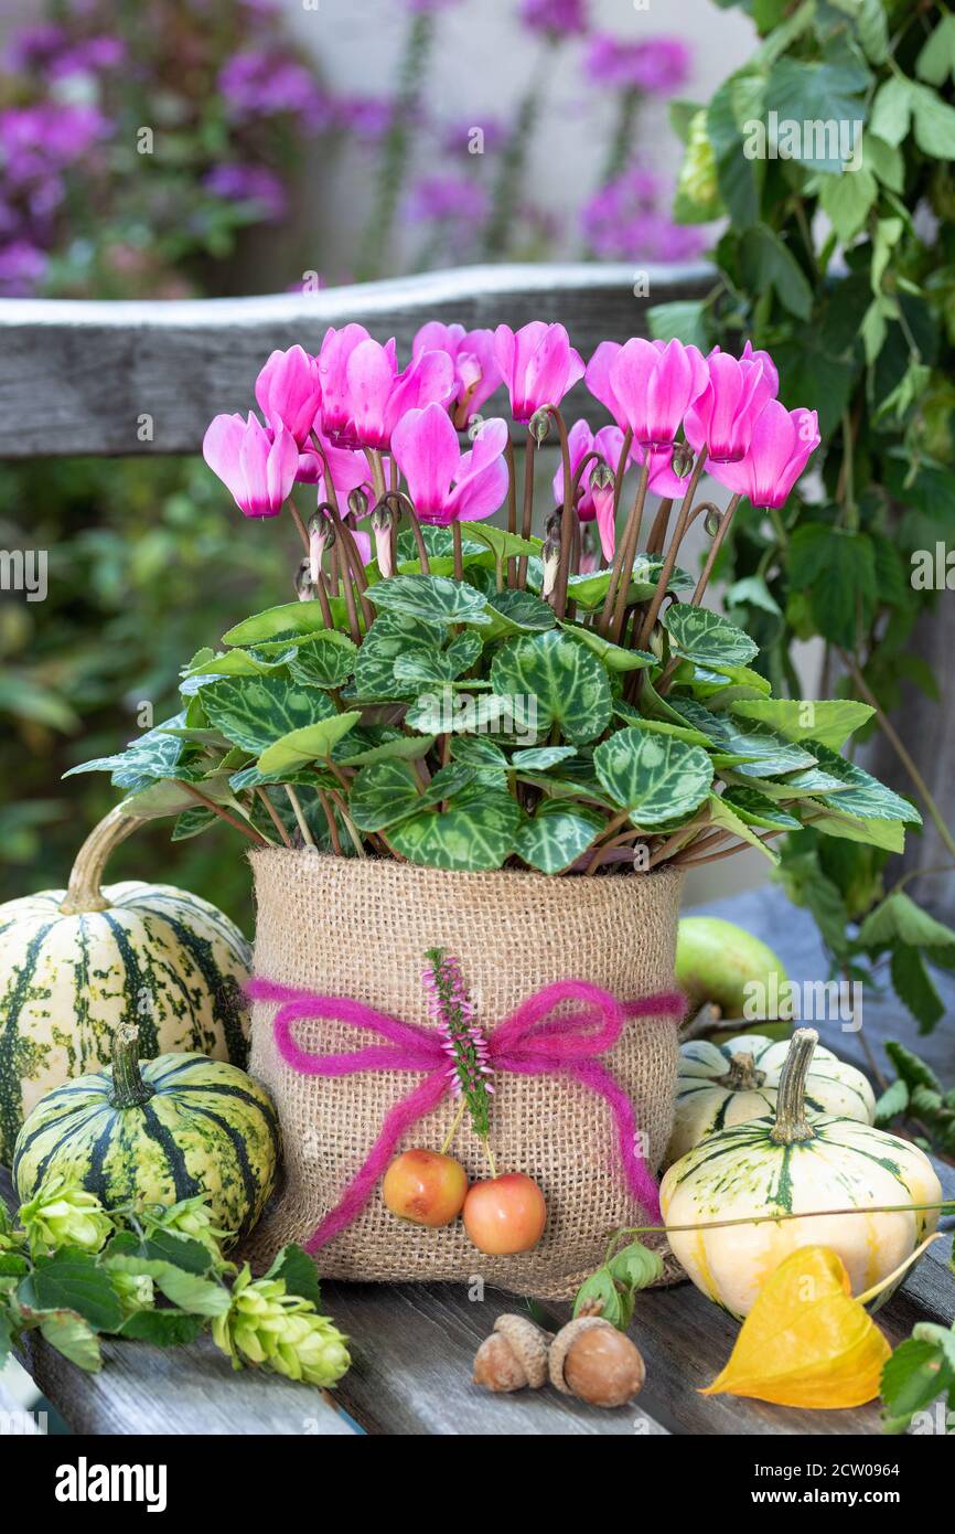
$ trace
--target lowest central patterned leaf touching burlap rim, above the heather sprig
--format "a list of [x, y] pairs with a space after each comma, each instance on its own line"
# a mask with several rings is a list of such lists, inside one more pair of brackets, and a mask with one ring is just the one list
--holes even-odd
[[402, 858], [429, 868], [500, 868], [514, 851], [520, 810], [509, 793], [472, 784], [443, 811], [426, 810], [392, 827]]

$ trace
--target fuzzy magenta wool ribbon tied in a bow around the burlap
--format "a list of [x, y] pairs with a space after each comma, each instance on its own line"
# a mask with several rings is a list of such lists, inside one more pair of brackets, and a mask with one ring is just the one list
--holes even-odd
[[[319, 996], [297, 991], [262, 977], [250, 980], [254, 1002], [276, 1002], [273, 1029], [279, 1054], [304, 1075], [353, 1075], [359, 1071], [423, 1071], [425, 1080], [391, 1108], [382, 1132], [366, 1160], [353, 1177], [339, 1203], [305, 1243], [307, 1252], [337, 1236], [362, 1212], [377, 1180], [386, 1170], [402, 1135], [418, 1118], [431, 1114], [449, 1091], [445, 1035], [438, 1029], [403, 1023], [374, 1006], [345, 996]], [[553, 1017], [563, 1002], [578, 1002], [570, 1016]], [[558, 980], [535, 991], [518, 1009], [487, 1034], [487, 1055], [495, 1071], [514, 1075], [566, 1075], [602, 1097], [619, 1141], [619, 1160], [627, 1187], [642, 1204], [650, 1224], [661, 1224], [656, 1181], [636, 1147], [633, 1104], [598, 1055], [610, 1049], [632, 1017], [682, 1017], [687, 1000], [679, 991], [662, 991], [639, 1002], [618, 1002], [599, 985], [586, 980]], [[368, 1045], [345, 1054], [311, 1054], [296, 1042], [293, 1023], [325, 1017], [379, 1034], [388, 1043]]]

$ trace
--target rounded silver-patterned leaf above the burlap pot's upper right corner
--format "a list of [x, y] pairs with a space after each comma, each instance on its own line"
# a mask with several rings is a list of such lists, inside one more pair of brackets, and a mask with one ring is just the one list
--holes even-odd
[[601, 741], [593, 765], [615, 804], [647, 828], [691, 815], [713, 782], [713, 764], [699, 746], [633, 727]]

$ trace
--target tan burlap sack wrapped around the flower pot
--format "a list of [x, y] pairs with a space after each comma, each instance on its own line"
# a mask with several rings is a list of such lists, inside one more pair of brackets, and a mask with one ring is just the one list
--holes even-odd
[[[543, 985], [581, 979], [621, 1000], [673, 985], [681, 876], [546, 877], [537, 873], [446, 873], [391, 861], [299, 851], [251, 854], [258, 927], [254, 973], [327, 996], [354, 997], [423, 1028], [429, 1017], [425, 951], [460, 959], [487, 1031]], [[285, 1180], [253, 1232], [253, 1266], [285, 1241], [305, 1243], [359, 1169], [388, 1109], [422, 1077], [369, 1072], [302, 1075], [279, 1057], [271, 1003], [251, 1016], [250, 1071], [276, 1100]], [[294, 1025], [305, 1049], [337, 1052], [377, 1043], [345, 1023]], [[636, 1019], [604, 1063], [627, 1089], [648, 1135], [656, 1172], [673, 1121], [676, 1023]], [[547, 1200], [540, 1244], [518, 1256], [484, 1256], [461, 1221], [428, 1230], [395, 1220], [372, 1197], [360, 1216], [317, 1253], [320, 1273], [345, 1279], [468, 1279], [520, 1295], [563, 1299], [599, 1266], [607, 1233], [639, 1223], [624, 1186], [605, 1103], [576, 1081], [495, 1077], [491, 1143], [498, 1172], [526, 1172]], [[455, 1104], [409, 1132], [402, 1149], [440, 1149]], [[471, 1178], [489, 1175], [468, 1115], [454, 1155]]]

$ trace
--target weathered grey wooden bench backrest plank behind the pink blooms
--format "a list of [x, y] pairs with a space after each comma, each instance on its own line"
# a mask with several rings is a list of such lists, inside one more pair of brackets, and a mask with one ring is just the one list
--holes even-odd
[[[645, 331], [647, 302], [705, 291], [702, 265], [492, 265], [319, 293], [184, 302], [0, 301], [0, 457], [196, 453], [218, 411], [253, 408], [274, 347], [317, 350], [359, 321], [408, 356], [426, 319], [478, 325], [563, 321], [589, 356]], [[641, 284], [642, 287], [644, 284]], [[491, 414], [494, 407], [486, 407]], [[152, 420], [143, 440], [141, 417]]]

